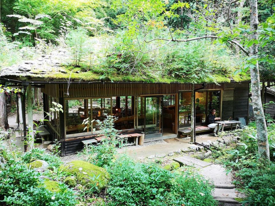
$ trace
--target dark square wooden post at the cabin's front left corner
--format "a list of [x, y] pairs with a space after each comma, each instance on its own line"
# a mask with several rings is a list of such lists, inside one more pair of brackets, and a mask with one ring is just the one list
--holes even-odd
[[59, 97], [58, 103], [62, 105], [62, 108], [64, 112], [59, 112], [59, 140], [61, 142], [60, 147], [60, 156], [64, 157], [65, 155], [65, 136], [66, 136], [66, 130], [65, 130], [65, 109], [64, 108], [64, 98]]

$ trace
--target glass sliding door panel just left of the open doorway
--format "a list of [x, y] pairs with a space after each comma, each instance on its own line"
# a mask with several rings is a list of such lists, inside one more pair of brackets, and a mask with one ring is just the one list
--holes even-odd
[[162, 133], [160, 97], [146, 97], [145, 137]]

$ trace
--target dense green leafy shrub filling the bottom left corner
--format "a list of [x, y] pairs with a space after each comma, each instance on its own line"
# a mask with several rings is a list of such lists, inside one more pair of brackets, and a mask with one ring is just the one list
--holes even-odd
[[0, 205], [12, 206], [75, 206], [74, 192], [64, 183], [51, 192], [38, 177], [39, 173], [20, 162], [11, 161], [0, 172]]

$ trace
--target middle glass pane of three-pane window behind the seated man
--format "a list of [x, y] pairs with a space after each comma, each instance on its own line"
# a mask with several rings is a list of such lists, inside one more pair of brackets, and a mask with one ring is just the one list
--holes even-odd
[[206, 91], [196, 92], [196, 123], [205, 122]]

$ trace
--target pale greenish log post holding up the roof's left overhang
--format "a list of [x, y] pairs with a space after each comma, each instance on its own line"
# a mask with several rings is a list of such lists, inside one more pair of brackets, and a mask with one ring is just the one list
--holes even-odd
[[27, 109], [28, 109], [28, 151], [31, 151], [34, 147], [34, 123], [32, 117], [32, 85], [27, 87]]

